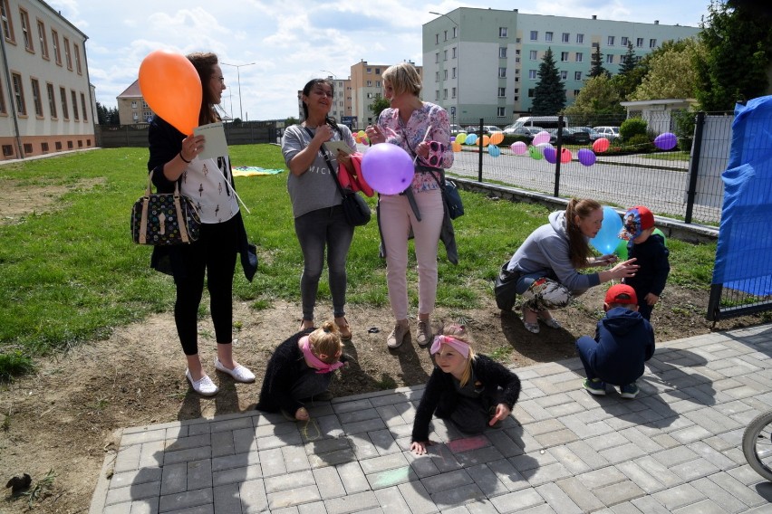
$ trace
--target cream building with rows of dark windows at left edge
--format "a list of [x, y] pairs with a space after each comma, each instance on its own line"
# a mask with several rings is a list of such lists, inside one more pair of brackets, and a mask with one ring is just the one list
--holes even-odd
[[94, 147], [88, 36], [40, 0], [0, 0], [0, 23], [2, 158]]

